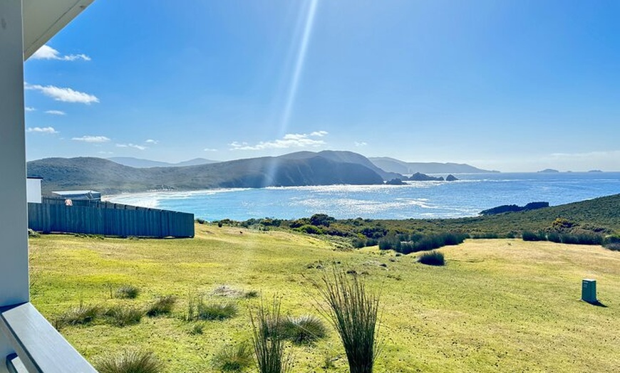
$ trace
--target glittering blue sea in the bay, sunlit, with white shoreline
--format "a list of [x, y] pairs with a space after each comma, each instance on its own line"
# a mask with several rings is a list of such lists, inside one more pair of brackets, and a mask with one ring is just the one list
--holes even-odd
[[[442, 175], [445, 177], [445, 175]], [[547, 201], [552, 206], [620, 193], [620, 172], [455, 174], [455, 182], [209, 189], [119, 194], [120, 204], [184, 211], [196, 218], [297, 219], [325, 213], [336, 219], [456, 218], [502, 204]]]

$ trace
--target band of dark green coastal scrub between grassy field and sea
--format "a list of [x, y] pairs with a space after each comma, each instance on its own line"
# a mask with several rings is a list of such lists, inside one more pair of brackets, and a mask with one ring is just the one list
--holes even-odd
[[[618, 246], [608, 236], [620, 232], [620, 194], [544, 209], [460, 219], [336, 220], [326, 214], [291, 221], [251, 219], [220, 221], [223, 225], [284, 228], [342, 238], [355, 248], [379, 245], [401, 253], [456, 245], [470, 238], [517, 238], [525, 232], [537, 241]], [[544, 236], [544, 238], [543, 238]], [[607, 238], [606, 238], [607, 237]], [[609, 241], [611, 240], [611, 241]]]

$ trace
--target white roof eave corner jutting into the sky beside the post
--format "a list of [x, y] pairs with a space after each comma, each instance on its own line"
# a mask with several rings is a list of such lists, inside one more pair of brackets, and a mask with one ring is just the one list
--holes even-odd
[[24, 61], [94, 0], [24, 0]]

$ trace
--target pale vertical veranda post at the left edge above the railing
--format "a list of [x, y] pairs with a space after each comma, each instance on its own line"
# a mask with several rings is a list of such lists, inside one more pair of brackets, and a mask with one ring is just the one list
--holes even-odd
[[[0, 307], [28, 302], [21, 0], [0, 1]], [[0, 332], [0, 372], [12, 352]]]

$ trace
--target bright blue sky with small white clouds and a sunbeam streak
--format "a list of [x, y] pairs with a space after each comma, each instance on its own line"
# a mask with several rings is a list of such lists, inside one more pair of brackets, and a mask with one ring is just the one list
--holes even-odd
[[620, 1], [95, 0], [25, 63], [28, 158], [619, 171], [619, 19]]

